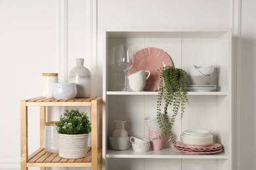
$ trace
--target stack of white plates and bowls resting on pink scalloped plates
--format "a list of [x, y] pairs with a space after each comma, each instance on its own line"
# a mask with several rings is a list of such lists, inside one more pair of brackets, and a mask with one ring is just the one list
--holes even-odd
[[181, 143], [207, 146], [213, 143], [213, 135], [205, 129], [188, 129], [182, 132]]

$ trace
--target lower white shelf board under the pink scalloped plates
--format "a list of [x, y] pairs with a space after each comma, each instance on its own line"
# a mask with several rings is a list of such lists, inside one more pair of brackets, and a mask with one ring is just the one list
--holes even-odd
[[107, 158], [167, 158], [167, 159], [228, 159], [225, 153], [190, 155], [177, 152], [173, 148], [162, 148], [161, 150], [149, 150], [148, 152], [135, 152], [129, 150], [108, 150]]

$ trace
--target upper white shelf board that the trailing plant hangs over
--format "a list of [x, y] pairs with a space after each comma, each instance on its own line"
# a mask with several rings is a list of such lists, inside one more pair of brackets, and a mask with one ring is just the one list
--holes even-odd
[[[108, 91], [107, 95], [158, 95], [158, 92], [116, 92]], [[188, 95], [228, 95], [228, 92], [188, 92]]]

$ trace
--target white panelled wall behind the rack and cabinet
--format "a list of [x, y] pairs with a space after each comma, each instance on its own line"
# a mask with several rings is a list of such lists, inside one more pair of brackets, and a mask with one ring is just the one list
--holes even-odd
[[[67, 3], [68, 2], [68, 3]], [[65, 18], [68, 4], [68, 18]], [[106, 28], [216, 28], [232, 26], [232, 0], [98, 0], [98, 54], [96, 54], [96, 1], [1, 0], [0, 1], [0, 169], [19, 169], [20, 99], [41, 95], [41, 73], [60, 73], [67, 78], [75, 58], [85, 58], [101, 95], [102, 31]], [[255, 118], [255, 2], [242, 4], [242, 46], [238, 96], [238, 164], [256, 169]], [[93, 10], [91, 10], [93, 9]], [[121, 19], [120, 19], [121, 18]], [[68, 19], [68, 24], [65, 20]], [[68, 30], [68, 38], [65, 37]], [[65, 41], [66, 40], [66, 41]], [[65, 42], [68, 42], [68, 44]], [[97, 58], [98, 56], [98, 58]], [[251, 68], [251, 69], [247, 69]], [[241, 103], [241, 105], [240, 105]], [[38, 114], [30, 121], [30, 144], [38, 146]], [[32, 128], [33, 126], [33, 128]]]

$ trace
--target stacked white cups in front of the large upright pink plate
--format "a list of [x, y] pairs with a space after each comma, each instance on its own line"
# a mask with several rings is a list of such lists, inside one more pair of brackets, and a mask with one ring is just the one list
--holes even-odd
[[[147, 76], [146, 73], [148, 73]], [[148, 70], [141, 70], [133, 73], [132, 75], [129, 75], [129, 86], [131, 90], [133, 90], [134, 92], [140, 92], [141, 90], [143, 90], [146, 84], [146, 80], [148, 80], [149, 76], [150, 71]]]

